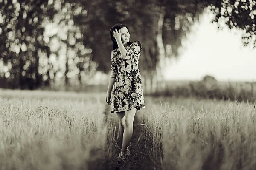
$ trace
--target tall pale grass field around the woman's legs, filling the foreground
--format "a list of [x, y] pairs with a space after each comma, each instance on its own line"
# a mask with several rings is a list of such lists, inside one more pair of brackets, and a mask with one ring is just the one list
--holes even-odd
[[145, 97], [132, 157], [105, 93], [0, 90], [0, 170], [253, 170], [256, 110], [247, 102]]

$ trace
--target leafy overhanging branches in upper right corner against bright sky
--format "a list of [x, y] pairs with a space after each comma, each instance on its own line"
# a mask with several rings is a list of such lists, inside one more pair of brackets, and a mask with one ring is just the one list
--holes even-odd
[[244, 30], [242, 36], [244, 46], [256, 47], [255, 0], [207, 0], [205, 3], [216, 15], [213, 22], [220, 23], [224, 20], [230, 29]]

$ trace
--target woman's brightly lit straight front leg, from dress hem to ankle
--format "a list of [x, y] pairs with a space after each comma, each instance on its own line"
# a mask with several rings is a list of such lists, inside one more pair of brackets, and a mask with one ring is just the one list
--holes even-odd
[[125, 152], [126, 147], [129, 145], [133, 133], [133, 122], [136, 113], [136, 108], [125, 111], [125, 130], [123, 134], [122, 152]]

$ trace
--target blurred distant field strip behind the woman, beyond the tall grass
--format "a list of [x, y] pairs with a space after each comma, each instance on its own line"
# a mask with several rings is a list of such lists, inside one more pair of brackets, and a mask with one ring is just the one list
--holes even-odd
[[[108, 84], [88, 85], [75, 91], [106, 93]], [[197, 97], [200, 99], [220, 99], [231, 101], [256, 101], [256, 82], [221, 81], [166, 81], [165, 87], [151, 91], [143, 85], [145, 96]]]

